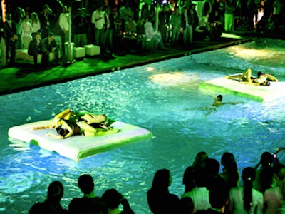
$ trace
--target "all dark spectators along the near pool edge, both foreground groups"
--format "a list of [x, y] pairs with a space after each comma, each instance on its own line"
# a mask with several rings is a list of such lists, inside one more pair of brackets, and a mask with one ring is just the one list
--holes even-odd
[[[182, 195], [170, 193], [172, 175], [162, 168], [155, 172], [152, 185], [142, 197], [147, 199], [150, 213], [284, 213], [285, 165], [274, 154], [265, 151], [254, 167], [247, 166], [239, 174], [233, 153], [225, 152], [217, 161], [204, 151], [197, 153], [192, 165], [185, 169]], [[222, 165], [222, 170], [220, 170]], [[127, 198], [115, 188], [100, 197], [94, 193], [91, 175], [78, 178], [81, 198], [73, 198], [68, 210], [61, 206], [63, 185], [56, 180], [48, 187], [44, 202], [35, 203], [29, 213], [125, 213], [133, 214]]]

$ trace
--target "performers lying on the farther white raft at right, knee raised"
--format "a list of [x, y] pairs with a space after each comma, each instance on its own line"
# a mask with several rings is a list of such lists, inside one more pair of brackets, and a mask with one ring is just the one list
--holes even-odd
[[224, 76], [224, 78], [229, 78], [232, 80], [237, 80], [245, 84], [255, 85], [255, 86], [269, 86], [270, 82], [267, 80], [267, 76], [261, 75], [258, 78], [252, 76], [252, 69], [247, 68], [242, 74]]

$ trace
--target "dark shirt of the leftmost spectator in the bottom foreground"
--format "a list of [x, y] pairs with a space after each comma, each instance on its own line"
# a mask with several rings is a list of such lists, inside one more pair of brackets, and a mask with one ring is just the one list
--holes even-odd
[[51, 204], [48, 201], [35, 203], [28, 214], [66, 214], [68, 210], [65, 210], [58, 204]]

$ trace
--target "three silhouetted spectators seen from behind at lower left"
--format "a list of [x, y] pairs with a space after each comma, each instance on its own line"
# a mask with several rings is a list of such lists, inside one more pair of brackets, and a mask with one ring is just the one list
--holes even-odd
[[[61, 198], [63, 197], [63, 184], [56, 180], [48, 185], [48, 193], [46, 200], [35, 203], [29, 214], [49, 213], [49, 214], [65, 214], [65, 213], [89, 213], [89, 214], [134, 214], [127, 198], [118, 192], [115, 188], [111, 188], [103, 193], [102, 197], [98, 197], [94, 193], [94, 180], [91, 175], [83, 174], [78, 178], [78, 188], [82, 192], [82, 198], [73, 198], [68, 205], [68, 210], [61, 206]], [[120, 208], [123, 206], [123, 210]]]

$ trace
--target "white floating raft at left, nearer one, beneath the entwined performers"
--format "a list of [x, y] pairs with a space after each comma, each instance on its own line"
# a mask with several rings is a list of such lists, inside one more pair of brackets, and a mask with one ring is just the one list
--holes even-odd
[[53, 129], [32, 130], [33, 127], [49, 126], [53, 120], [26, 123], [9, 129], [9, 137], [31, 143], [48, 151], [53, 151], [66, 158], [78, 161], [113, 148], [152, 137], [152, 133], [145, 128], [133, 126], [128, 123], [115, 121], [110, 126], [118, 128], [118, 133], [103, 136], [71, 136], [66, 139], [56, 139], [46, 136], [46, 132], [56, 133]]

